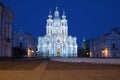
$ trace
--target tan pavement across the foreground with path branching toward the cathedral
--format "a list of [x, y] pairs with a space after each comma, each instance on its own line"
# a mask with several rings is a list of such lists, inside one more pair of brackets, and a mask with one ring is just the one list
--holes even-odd
[[43, 61], [34, 70], [0, 70], [0, 80], [119, 80], [120, 78], [120, 69], [52, 70], [46, 68], [48, 64], [50, 65], [49, 61]]

